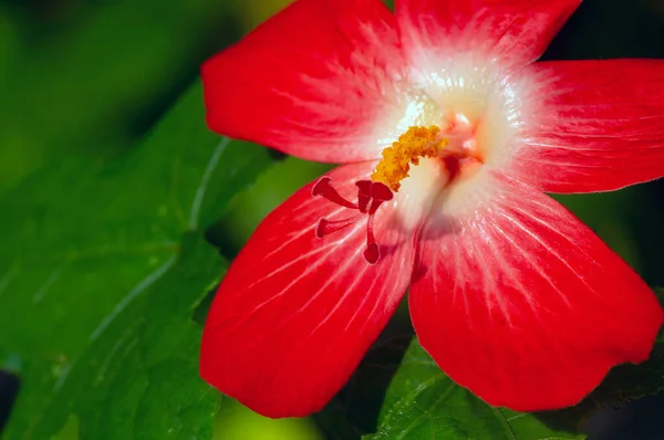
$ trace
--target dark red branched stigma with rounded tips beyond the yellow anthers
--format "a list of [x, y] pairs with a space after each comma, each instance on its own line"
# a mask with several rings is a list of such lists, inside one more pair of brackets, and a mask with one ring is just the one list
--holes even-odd
[[336, 192], [331, 185], [331, 180], [332, 179], [328, 176], [322, 177], [311, 189], [311, 195], [322, 196], [333, 203], [360, 212], [342, 220], [331, 221], [321, 219], [315, 228], [315, 235], [318, 238], [323, 238], [330, 233], [340, 231], [355, 223], [366, 214], [366, 249], [364, 250], [364, 259], [370, 264], [377, 263], [381, 259], [381, 247], [376, 243], [373, 233], [373, 219], [378, 207], [384, 201], [392, 200], [394, 193], [385, 184], [380, 181], [359, 180], [355, 182], [355, 186], [357, 187], [357, 202], [353, 203]]

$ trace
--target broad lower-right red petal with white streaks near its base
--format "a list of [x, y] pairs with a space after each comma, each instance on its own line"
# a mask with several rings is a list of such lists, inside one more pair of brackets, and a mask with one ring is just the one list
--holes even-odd
[[494, 203], [429, 223], [411, 313], [424, 348], [495, 406], [574, 405], [616, 364], [645, 360], [662, 310], [645, 283], [554, 200], [495, 179]]

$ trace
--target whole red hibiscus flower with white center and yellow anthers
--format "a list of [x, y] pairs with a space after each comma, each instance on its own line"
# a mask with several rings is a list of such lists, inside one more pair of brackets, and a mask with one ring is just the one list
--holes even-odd
[[319, 410], [409, 286], [419, 342], [495, 406], [570, 406], [647, 358], [647, 285], [544, 192], [664, 175], [664, 61], [533, 62], [580, 0], [299, 0], [203, 69], [209, 126], [341, 163], [270, 213], [209, 312], [203, 377]]

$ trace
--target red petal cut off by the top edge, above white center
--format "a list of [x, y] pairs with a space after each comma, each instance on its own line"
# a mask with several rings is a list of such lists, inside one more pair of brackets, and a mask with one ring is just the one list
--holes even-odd
[[[437, 63], [478, 55], [519, 67], [537, 60], [581, 0], [397, 0], [404, 44]], [[419, 56], [422, 55], [422, 56]], [[436, 60], [437, 59], [437, 60]]]

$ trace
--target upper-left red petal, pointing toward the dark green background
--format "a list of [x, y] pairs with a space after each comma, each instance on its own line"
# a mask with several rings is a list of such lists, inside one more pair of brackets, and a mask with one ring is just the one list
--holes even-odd
[[311, 160], [380, 158], [404, 65], [395, 29], [380, 0], [292, 3], [204, 65], [209, 126]]

